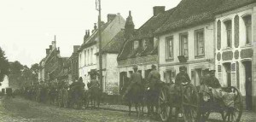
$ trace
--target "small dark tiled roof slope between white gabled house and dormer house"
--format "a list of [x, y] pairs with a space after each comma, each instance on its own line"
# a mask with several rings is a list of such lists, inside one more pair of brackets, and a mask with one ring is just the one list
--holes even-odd
[[120, 49], [122, 49], [125, 44], [125, 31], [121, 30], [118, 34], [116, 34], [113, 39], [103, 47], [103, 53], [119, 53]]

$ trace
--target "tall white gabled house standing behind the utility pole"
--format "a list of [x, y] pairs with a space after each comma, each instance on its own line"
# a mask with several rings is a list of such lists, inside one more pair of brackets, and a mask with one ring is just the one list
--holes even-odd
[[[108, 22], [102, 23], [102, 48], [108, 45], [109, 42], [116, 36], [122, 28], [125, 26], [125, 19], [117, 15], [108, 15]], [[98, 29], [95, 25], [92, 34], [86, 31], [84, 36], [84, 44], [79, 48], [79, 77], [82, 77], [85, 84], [85, 89], [87, 88], [87, 83], [90, 82], [90, 72], [99, 69], [99, 60], [96, 55], [98, 53]], [[111, 74], [111, 72], [106, 72], [106, 67], [108, 63], [116, 61], [116, 58], [111, 57], [112, 55], [102, 55], [102, 67], [103, 67], [103, 91], [106, 91], [106, 84], [108, 81], [114, 81], [115, 79], [107, 78], [106, 73]], [[108, 62], [107, 60], [108, 59]]]

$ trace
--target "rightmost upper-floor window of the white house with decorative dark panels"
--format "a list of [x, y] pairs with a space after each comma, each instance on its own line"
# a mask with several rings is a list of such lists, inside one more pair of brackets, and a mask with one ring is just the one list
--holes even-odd
[[252, 16], [246, 15], [243, 20], [246, 27], [246, 44], [252, 44]]

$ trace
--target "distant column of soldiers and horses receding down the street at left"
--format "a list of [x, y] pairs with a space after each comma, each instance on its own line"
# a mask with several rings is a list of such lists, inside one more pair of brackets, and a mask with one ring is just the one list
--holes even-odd
[[[60, 104], [65, 101], [69, 102], [69, 107], [76, 105], [81, 107], [84, 97], [84, 86], [83, 79], [79, 78], [74, 80], [72, 84], [59, 81], [59, 82], [40, 82], [40, 84], [31, 84], [24, 86], [20, 92], [21, 96], [24, 96], [26, 99], [50, 103], [50, 104]], [[65, 92], [66, 91], [66, 92]], [[67, 96], [63, 94], [68, 94]]]

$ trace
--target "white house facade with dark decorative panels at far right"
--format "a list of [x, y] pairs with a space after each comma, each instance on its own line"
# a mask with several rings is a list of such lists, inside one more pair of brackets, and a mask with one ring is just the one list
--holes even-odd
[[[253, 52], [256, 49], [256, 2], [241, 1], [236, 9], [218, 13], [215, 18], [218, 79], [223, 86], [238, 88], [244, 107], [255, 109], [256, 65]], [[252, 95], [253, 99], [250, 98]]]

